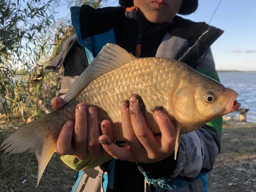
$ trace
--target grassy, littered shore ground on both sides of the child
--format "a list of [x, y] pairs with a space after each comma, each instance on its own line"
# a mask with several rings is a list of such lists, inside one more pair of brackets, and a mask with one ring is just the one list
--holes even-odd
[[[14, 129], [0, 121], [0, 143]], [[54, 156], [35, 188], [37, 171], [34, 154], [0, 151], [0, 192], [70, 192], [75, 182], [76, 172]], [[207, 179], [209, 192], [256, 192], [256, 125], [224, 122], [221, 153]]]

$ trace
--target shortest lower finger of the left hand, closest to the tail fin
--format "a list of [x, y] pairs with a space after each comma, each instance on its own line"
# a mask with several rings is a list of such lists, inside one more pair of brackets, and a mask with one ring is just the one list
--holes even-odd
[[59, 134], [57, 144], [56, 144], [56, 151], [60, 155], [67, 155], [73, 154], [74, 148], [72, 146], [72, 136], [74, 131], [74, 122], [69, 120], [65, 122], [61, 132]]

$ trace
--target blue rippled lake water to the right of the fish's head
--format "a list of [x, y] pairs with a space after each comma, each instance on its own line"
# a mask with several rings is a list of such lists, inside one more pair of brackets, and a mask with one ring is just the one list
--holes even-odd
[[[248, 108], [247, 121], [256, 122], [256, 72], [218, 72], [225, 87], [236, 90], [241, 108]], [[233, 112], [238, 116], [239, 113]]]

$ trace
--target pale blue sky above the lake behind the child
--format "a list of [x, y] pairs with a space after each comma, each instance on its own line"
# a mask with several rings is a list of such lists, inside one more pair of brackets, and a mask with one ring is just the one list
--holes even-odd
[[[209, 23], [220, 0], [199, 0], [195, 13], [183, 18]], [[242, 3], [243, 2], [243, 3]], [[103, 6], [119, 6], [108, 0]], [[222, 0], [209, 23], [224, 31], [211, 46], [217, 70], [256, 71], [256, 0]], [[60, 15], [69, 13], [62, 9]], [[180, 15], [181, 16], [181, 15]]]

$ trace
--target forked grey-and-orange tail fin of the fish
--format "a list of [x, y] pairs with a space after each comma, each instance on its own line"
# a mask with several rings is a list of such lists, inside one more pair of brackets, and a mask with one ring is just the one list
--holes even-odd
[[4, 151], [5, 153], [35, 153], [38, 161], [38, 179], [36, 187], [38, 187], [44, 170], [56, 148], [56, 140], [52, 137], [52, 134], [49, 132], [48, 126], [45, 123], [49, 121], [49, 117], [52, 113], [48, 113], [47, 115], [18, 128], [14, 133], [7, 137], [0, 146], [2, 150], [6, 149], [6, 151]]

